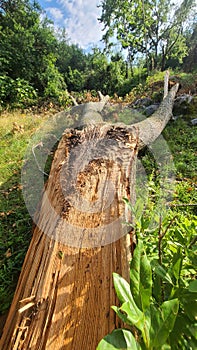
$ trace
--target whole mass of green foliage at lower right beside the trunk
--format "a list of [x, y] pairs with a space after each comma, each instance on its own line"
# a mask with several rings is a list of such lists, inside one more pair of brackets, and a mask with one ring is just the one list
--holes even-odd
[[139, 240], [130, 265], [130, 286], [114, 274], [121, 306], [112, 307], [127, 329], [106, 336], [98, 349], [194, 349], [197, 220], [178, 213], [175, 218], [171, 212], [161, 223], [154, 213], [159, 226], [151, 229], [150, 209], [146, 208], [143, 215], [139, 204], [131, 209], [136, 214]]

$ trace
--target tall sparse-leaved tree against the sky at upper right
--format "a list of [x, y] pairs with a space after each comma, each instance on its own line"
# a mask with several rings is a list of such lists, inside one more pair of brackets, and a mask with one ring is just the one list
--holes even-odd
[[176, 53], [182, 60], [187, 54], [183, 33], [194, 6], [193, 0], [180, 5], [167, 0], [104, 0], [100, 18], [106, 29], [103, 40], [109, 49], [115, 37], [131, 61], [141, 54], [147, 68], [163, 70], [170, 55]]

